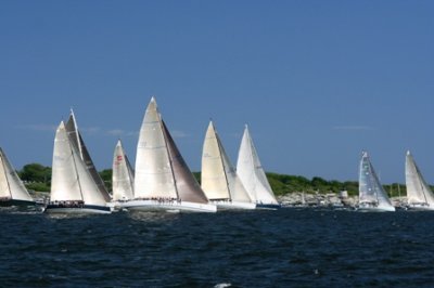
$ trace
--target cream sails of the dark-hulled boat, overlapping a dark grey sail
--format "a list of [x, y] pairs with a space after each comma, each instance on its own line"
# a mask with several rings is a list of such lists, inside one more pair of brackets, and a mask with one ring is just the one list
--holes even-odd
[[82, 200], [86, 205], [95, 206], [106, 204], [77, 147], [71, 143], [63, 121], [54, 139], [50, 200]]

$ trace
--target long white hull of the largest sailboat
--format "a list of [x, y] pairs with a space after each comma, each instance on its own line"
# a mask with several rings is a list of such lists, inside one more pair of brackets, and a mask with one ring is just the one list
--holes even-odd
[[177, 200], [129, 200], [118, 202], [120, 208], [132, 211], [162, 211], [162, 210], [180, 210], [189, 212], [217, 212], [214, 204], [199, 204]]

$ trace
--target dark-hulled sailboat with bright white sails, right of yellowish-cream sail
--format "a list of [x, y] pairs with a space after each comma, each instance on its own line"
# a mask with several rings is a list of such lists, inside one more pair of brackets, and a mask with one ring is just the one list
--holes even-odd
[[260, 165], [247, 126], [244, 128], [237, 161], [237, 174], [240, 176], [256, 208], [280, 208], [267, 175]]

